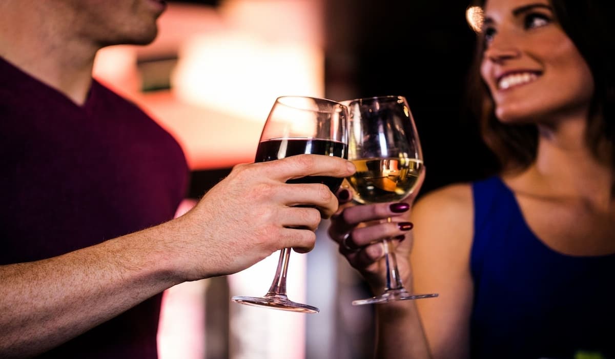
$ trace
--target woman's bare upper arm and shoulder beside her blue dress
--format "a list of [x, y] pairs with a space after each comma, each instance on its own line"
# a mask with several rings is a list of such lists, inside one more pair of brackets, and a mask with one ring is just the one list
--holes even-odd
[[[412, 208], [410, 254], [414, 290], [437, 292], [437, 301], [416, 304], [434, 356], [466, 352], [472, 310], [470, 249], [474, 232], [472, 187], [451, 184], [425, 193]], [[459, 334], [461, 333], [461, 335]], [[463, 357], [464, 355], [453, 355]]]

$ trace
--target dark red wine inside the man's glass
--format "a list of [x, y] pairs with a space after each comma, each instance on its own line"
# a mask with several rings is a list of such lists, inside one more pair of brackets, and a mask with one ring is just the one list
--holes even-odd
[[[342, 142], [322, 139], [271, 139], [258, 144], [254, 161], [265, 162], [303, 153], [348, 158], [346, 144]], [[288, 180], [287, 183], [324, 184], [335, 193], [343, 180], [343, 178], [313, 175]]]

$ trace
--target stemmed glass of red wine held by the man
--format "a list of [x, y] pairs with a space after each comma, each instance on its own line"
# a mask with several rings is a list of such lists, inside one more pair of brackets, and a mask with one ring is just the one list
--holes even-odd
[[[263, 127], [255, 162], [272, 161], [303, 153], [347, 158], [347, 108], [339, 102], [305, 96], [282, 96], [274, 102]], [[287, 183], [322, 183], [336, 192], [342, 178], [308, 176]], [[290, 248], [280, 251], [276, 275], [263, 297], [232, 297], [232, 301], [290, 310], [317, 313], [312, 305], [290, 301], [286, 294], [286, 276]]]

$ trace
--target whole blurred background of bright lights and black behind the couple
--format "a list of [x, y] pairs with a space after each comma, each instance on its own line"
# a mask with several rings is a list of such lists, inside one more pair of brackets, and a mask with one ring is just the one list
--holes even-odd
[[[404, 95], [425, 163], [421, 195], [493, 168], [466, 108], [474, 33], [468, 1], [169, 1], [145, 47], [99, 52], [95, 77], [132, 99], [180, 142], [199, 198], [237, 163], [252, 162], [279, 95], [333, 100]], [[188, 208], [188, 207], [186, 207]], [[278, 253], [232, 276], [165, 292], [162, 359], [371, 358], [373, 307], [360, 278], [317, 231], [315, 249], [293, 252], [290, 299], [320, 308], [290, 313], [235, 304], [261, 296]], [[429, 300], [429, 299], [426, 299]]]

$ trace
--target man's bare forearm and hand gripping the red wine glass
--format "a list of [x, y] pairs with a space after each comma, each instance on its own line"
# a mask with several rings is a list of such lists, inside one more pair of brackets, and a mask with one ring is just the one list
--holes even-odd
[[280, 248], [309, 251], [338, 201], [325, 185], [286, 181], [352, 172], [349, 161], [321, 155], [238, 165], [181, 217], [1, 266], [0, 357], [49, 350], [175, 284], [239, 272]]

